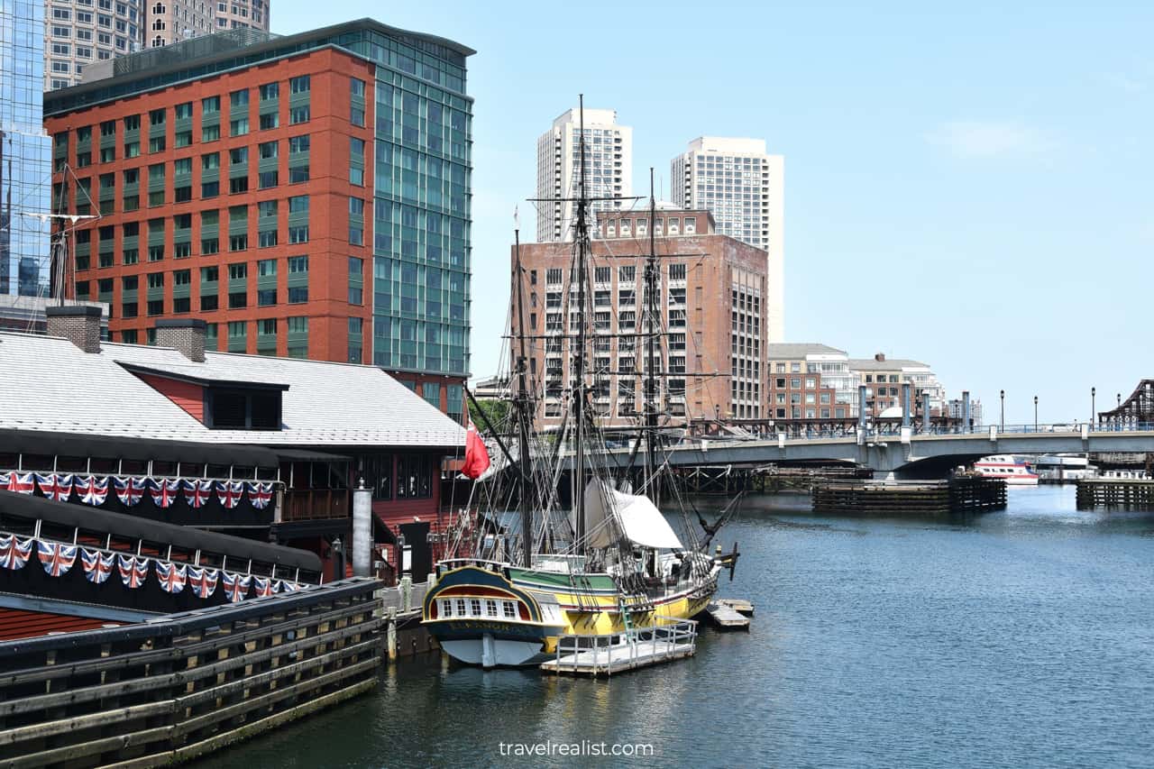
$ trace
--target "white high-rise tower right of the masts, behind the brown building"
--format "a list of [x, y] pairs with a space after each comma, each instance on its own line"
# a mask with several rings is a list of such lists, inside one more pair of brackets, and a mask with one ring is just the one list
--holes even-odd
[[702, 136], [670, 163], [673, 202], [713, 214], [718, 232], [766, 252], [766, 342], [785, 339], [785, 158], [762, 139]]

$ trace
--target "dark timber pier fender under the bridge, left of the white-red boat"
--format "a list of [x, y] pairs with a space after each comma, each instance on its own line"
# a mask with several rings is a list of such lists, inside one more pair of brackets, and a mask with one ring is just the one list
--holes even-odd
[[815, 513], [947, 516], [1006, 506], [1002, 480], [958, 477], [941, 481], [837, 481], [814, 486]]

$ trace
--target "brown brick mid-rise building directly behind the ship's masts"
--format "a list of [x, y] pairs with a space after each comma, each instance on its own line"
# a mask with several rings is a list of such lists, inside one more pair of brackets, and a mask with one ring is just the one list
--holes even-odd
[[[593, 403], [607, 427], [637, 424], [643, 413], [646, 353], [645, 263], [650, 210], [598, 214], [589, 305], [593, 333], [587, 360]], [[654, 217], [660, 271], [654, 372], [662, 425], [757, 420], [765, 413], [765, 252], [714, 231], [704, 210], [661, 204]], [[538, 425], [555, 428], [572, 387], [577, 330], [574, 245], [520, 247], [530, 373], [544, 391]], [[516, 252], [512, 254], [516, 259]], [[516, 301], [516, 293], [512, 297]], [[516, 311], [516, 306], [514, 307]], [[512, 313], [514, 333], [517, 313]]]

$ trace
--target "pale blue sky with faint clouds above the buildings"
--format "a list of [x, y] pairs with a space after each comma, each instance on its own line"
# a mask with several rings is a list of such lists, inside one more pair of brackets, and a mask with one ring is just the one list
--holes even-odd
[[[1154, 5], [273, 0], [473, 47], [472, 372], [496, 373], [537, 137], [585, 95], [649, 167], [785, 156], [786, 341], [930, 364], [996, 424], [1084, 421], [1154, 376]], [[666, 193], [668, 196], [668, 193]]]

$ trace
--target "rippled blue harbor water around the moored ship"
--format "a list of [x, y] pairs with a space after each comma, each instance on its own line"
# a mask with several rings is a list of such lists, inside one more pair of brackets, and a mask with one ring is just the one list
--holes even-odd
[[[1154, 514], [1076, 512], [1069, 486], [969, 522], [782, 495], [747, 500], [734, 539], [721, 592], [751, 632], [689, 660], [591, 681], [427, 656], [204, 766], [1154, 766]], [[652, 755], [590, 755], [614, 745]]]

